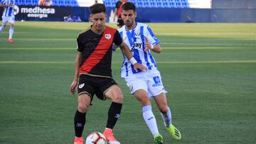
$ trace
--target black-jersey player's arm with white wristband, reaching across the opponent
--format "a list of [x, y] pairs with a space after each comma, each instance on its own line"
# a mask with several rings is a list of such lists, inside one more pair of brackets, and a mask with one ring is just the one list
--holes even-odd
[[145, 67], [142, 64], [139, 64], [137, 62], [137, 60], [135, 60], [135, 58], [132, 56], [132, 52], [131, 50], [129, 50], [128, 46], [122, 42], [121, 45], [119, 45], [120, 49], [122, 50], [122, 53], [125, 55], [125, 57], [128, 58], [129, 62], [132, 63], [132, 65], [134, 65], [134, 70], [142, 70], [142, 71], [147, 71], [147, 67]]

